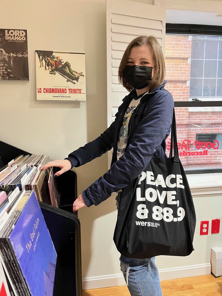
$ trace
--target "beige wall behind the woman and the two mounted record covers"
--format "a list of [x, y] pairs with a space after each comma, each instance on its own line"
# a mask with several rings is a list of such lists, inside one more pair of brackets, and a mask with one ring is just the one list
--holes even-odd
[[[21, 4], [22, 3], [22, 4]], [[59, 4], [57, 4], [59, 3]], [[105, 0], [1, 3], [4, 28], [28, 29], [30, 81], [1, 81], [0, 139], [33, 153], [64, 158], [106, 128], [106, 7]], [[8, 12], [8, 13], [7, 13]], [[86, 52], [87, 102], [36, 101], [35, 50]], [[105, 173], [107, 156], [81, 168], [78, 193]], [[211, 246], [222, 245], [221, 234], [199, 237], [200, 219], [222, 218], [222, 198], [194, 199], [197, 209], [195, 252], [188, 258], [157, 258], [159, 268], [209, 263]], [[119, 254], [112, 242], [116, 221], [114, 198], [79, 211], [83, 278], [119, 274]]]

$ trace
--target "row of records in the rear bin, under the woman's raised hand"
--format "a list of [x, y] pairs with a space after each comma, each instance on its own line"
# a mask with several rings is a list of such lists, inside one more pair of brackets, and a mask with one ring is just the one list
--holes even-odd
[[49, 161], [47, 155], [20, 155], [0, 169], [0, 186], [5, 189], [33, 190], [38, 201], [58, 207], [60, 194], [57, 190], [53, 168], [40, 171]]

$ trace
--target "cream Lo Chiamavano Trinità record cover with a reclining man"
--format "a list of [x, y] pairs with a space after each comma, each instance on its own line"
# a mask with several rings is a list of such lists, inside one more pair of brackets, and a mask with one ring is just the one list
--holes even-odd
[[36, 50], [37, 100], [86, 101], [85, 54]]

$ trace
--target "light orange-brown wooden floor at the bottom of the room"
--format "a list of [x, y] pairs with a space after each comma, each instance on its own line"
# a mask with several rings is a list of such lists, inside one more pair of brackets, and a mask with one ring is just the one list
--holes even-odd
[[[162, 281], [163, 296], [222, 296], [222, 277], [212, 275]], [[83, 296], [130, 296], [127, 287], [83, 291]]]

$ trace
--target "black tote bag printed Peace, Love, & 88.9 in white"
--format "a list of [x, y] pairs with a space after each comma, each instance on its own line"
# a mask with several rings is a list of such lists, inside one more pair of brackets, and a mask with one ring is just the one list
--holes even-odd
[[[174, 156], [173, 156], [174, 154]], [[152, 157], [120, 195], [114, 242], [127, 258], [187, 256], [194, 250], [196, 215], [179, 160], [173, 110], [170, 157]]]

